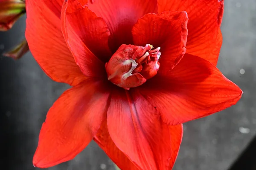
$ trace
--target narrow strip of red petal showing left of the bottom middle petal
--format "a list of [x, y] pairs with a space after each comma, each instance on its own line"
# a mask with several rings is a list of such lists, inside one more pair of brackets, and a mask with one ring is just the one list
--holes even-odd
[[94, 141], [99, 144], [102, 150], [105, 151], [105, 153], [121, 170], [139, 170], [112, 141], [108, 133], [107, 121], [102, 123], [97, 135], [94, 137]]

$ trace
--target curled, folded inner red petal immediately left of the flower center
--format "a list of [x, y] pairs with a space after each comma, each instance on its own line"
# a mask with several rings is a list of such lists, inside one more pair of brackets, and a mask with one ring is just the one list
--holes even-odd
[[[68, 2], [64, 2], [61, 11], [61, 29], [67, 45], [84, 75], [103, 77], [105, 76], [104, 63], [90, 51], [87, 44], [92, 43], [96, 46], [97, 37], [100, 35], [106, 40], [108, 28], [104, 27], [104, 21], [87, 6], [81, 6], [76, 0]], [[94, 34], [96, 40], [93, 40]]]

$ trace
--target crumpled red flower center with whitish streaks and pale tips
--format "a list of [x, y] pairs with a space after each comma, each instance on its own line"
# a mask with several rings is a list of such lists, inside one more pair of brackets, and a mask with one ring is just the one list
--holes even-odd
[[122, 44], [105, 64], [108, 80], [124, 89], [142, 85], [154, 77], [160, 67], [160, 47]]

